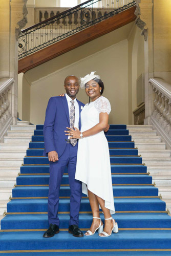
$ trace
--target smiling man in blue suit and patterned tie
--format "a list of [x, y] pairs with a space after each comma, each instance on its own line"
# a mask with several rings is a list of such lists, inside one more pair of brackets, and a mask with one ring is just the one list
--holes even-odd
[[76, 95], [79, 91], [79, 80], [70, 75], [65, 79], [66, 94], [64, 97], [51, 97], [44, 124], [45, 150], [44, 156], [50, 161], [50, 179], [48, 196], [49, 229], [44, 233], [45, 238], [53, 237], [59, 232], [59, 189], [61, 179], [67, 166], [70, 195], [69, 232], [75, 237], [83, 237], [78, 227], [78, 215], [82, 194], [82, 184], [75, 180], [78, 141], [66, 136], [66, 127], [81, 128], [80, 112], [84, 106]]

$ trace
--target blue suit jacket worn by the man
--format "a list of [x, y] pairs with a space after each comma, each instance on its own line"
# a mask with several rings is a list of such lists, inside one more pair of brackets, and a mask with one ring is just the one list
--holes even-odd
[[[79, 105], [79, 115], [84, 106], [77, 100]], [[82, 107], [81, 107], [82, 106]], [[64, 131], [70, 127], [70, 116], [66, 96], [51, 97], [46, 110], [44, 123], [45, 150], [43, 155], [48, 156], [48, 152], [56, 151], [60, 157], [67, 145], [67, 136]], [[79, 129], [81, 121], [79, 118]]]

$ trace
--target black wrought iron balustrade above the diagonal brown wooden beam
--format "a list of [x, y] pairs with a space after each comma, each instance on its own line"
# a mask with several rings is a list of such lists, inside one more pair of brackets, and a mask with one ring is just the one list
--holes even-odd
[[58, 13], [22, 31], [18, 39], [18, 59], [135, 5], [135, 0], [91, 0]]

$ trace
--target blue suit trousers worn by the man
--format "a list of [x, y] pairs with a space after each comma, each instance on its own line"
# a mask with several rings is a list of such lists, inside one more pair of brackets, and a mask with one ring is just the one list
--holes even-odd
[[59, 190], [63, 173], [67, 166], [69, 175], [69, 185], [71, 189], [70, 196], [70, 221], [69, 225], [78, 225], [79, 208], [82, 196], [82, 183], [75, 180], [75, 170], [77, 161], [77, 148], [68, 143], [65, 151], [56, 162], [50, 162], [50, 179], [49, 179], [49, 197], [48, 197], [48, 219], [49, 224], [59, 226], [58, 206]]

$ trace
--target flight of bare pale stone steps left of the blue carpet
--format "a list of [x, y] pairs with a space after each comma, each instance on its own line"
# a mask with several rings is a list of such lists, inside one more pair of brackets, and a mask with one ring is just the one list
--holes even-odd
[[0, 143], [0, 219], [7, 210], [16, 176], [20, 172], [35, 127], [30, 122], [18, 121], [17, 125], [11, 125], [4, 142]]

